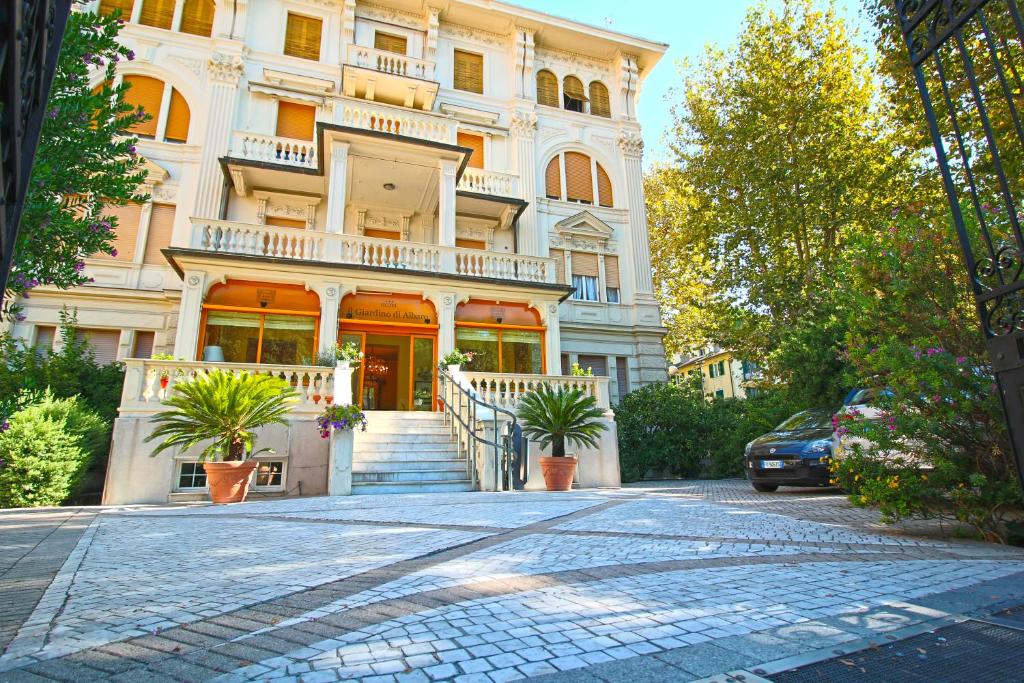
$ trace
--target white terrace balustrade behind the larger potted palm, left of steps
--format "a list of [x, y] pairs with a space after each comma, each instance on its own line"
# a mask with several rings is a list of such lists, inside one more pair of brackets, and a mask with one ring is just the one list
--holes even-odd
[[150, 414], [161, 410], [161, 401], [174, 385], [215, 368], [236, 374], [272, 375], [290, 383], [299, 393], [295, 411], [319, 412], [334, 400], [334, 368], [319, 366], [275, 366], [248, 362], [205, 362], [200, 360], [154, 360], [128, 358], [121, 391], [121, 415]]

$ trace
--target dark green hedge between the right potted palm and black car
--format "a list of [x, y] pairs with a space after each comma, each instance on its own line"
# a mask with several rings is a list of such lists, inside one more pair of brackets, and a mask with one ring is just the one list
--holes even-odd
[[698, 377], [649, 384], [624, 396], [615, 410], [623, 481], [648, 473], [742, 476], [746, 442], [794, 412], [773, 392], [709, 400]]

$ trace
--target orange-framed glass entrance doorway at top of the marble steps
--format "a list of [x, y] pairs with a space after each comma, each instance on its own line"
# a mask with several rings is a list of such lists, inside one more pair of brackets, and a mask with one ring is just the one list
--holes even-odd
[[343, 331], [340, 339], [362, 350], [362, 362], [352, 373], [352, 396], [362, 410], [434, 410], [433, 336]]

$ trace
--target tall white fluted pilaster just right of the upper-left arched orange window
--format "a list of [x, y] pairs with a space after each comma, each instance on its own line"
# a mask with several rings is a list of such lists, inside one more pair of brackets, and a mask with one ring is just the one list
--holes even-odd
[[240, 54], [214, 52], [207, 66], [207, 78], [210, 82], [207, 91], [209, 105], [206, 134], [203, 138], [203, 156], [199, 163], [195, 211], [195, 215], [200, 218], [220, 218], [224, 194], [220, 158], [227, 153], [231, 141], [239, 79], [244, 72], [245, 61]]

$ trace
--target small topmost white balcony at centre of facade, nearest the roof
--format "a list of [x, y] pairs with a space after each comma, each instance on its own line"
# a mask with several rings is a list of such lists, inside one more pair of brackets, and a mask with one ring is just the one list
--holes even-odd
[[349, 45], [342, 70], [342, 92], [349, 97], [429, 112], [438, 84], [434, 63], [407, 54]]

